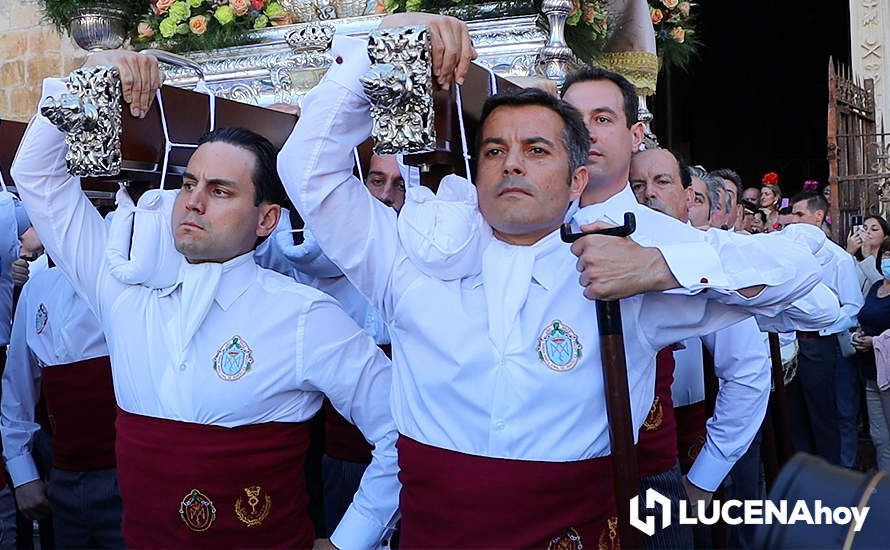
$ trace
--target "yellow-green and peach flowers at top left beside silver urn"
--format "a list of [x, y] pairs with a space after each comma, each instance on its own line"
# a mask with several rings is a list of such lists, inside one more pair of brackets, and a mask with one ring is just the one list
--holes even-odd
[[243, 43], [247, 31], [292, 23], [277, 0], [150, 0], [136, 27], [136, 46], [212, 50]]

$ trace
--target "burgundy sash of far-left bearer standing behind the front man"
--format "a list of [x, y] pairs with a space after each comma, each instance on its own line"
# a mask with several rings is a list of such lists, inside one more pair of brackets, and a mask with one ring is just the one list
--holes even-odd
[[41, 371], [53, 431], [53, 466], [87, 472], [114, 468], [117, 407], [108, 357]]

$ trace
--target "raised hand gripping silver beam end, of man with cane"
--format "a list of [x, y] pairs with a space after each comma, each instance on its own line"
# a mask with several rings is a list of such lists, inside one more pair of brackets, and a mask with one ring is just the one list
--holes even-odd
[[433, 54], [433, 76], [442, 89], [451, 83], [464, 83], [470, 61], [476, 59], [476, 49], [470, 40], [467, 24], [454, 17], [429, 13], [394, 13], [380, 23], [381, 29], [405, 25], [426, 25], [430, 29]]

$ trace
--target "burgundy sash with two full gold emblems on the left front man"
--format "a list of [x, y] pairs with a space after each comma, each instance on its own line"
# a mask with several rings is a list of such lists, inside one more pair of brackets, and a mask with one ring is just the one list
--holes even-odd
[[311, 548], [306, 424], [224, 428], [118, 411], [129, 548]]

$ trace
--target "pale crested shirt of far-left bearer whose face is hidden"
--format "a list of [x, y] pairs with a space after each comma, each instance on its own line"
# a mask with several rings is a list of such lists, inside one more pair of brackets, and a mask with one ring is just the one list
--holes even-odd
[[99, 321], [62, 270], [33, 273], [16, 307], [0, 404], [3, 458], [14, 487], [39, 478], [31, 445], [40, 429], [34, 408], [40, 398], [41, 370], [106, 355]]

